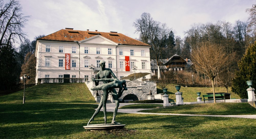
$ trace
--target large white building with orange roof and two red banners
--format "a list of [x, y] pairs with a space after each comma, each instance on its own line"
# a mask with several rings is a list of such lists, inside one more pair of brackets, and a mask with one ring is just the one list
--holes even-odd
[[117, 32], [62, 29], [37, 39], [36, 83], [39, 78], [91, 80], [101, 60], [119, 79], [134, 73], [133, 66], [137, 66], [136, 72], [150, 72], [150, 47]]

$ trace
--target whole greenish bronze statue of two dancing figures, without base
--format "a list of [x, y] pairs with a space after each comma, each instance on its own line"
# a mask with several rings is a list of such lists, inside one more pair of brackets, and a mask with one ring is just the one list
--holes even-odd
[[[104, 121], [106, 124], [106, 101], [108, 99], [108, 93], [111, 92], [113, 99], [115, 101], [115, 109], [114, 109], [114, 113], [113, 113], [113, 119], [111, 123], [118, 123], [115, 121], [115, 117], [116, 117], [116, 113], [119, 107], [119, 97], [121, 97], [122, 93], [124, 90], [127, 90], [126, 88], [126, 82], [125, 80], [119, 81], [115, 74], [112, 72], [111, 69], [109, 68], [105, 68], [105, 61], [100, 61], [100, 71], [97, 73], [96, 75], [96, 79], [92, 79], [92, 81], [95, 82], [94, 87], [91, 88], [91, 90], [102, 90], [103, 94], [100, 100], [100, 104], [98, 106], [98, 108], [95, 110], [93, 116], [91, 117], [91, 119], [89, 120], [88, 124], [94, 120], [94, 117], [100, 112], [100, 109], [103, 106], [103, 113], [104, 113]], [[114, 79], [111, 79], [111, 75]], [[99, 81], [102, 81], [104, 84], [99, 85]], [[116, 93], [115, 88], [119, 88], [119, 93]], [[122, 90], [122, 88], [124, 88]]]

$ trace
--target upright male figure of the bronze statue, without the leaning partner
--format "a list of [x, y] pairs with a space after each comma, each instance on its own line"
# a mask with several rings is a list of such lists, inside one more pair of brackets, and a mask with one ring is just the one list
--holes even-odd
[[[100, 71], [97, 73], [96, 79], [111, 78], [111, 75], [114, 79], [117, 79], [115, 74], [112, 72], [111, 69], [105, 68], [105, 61], [103, 61], [103, 60], [100, 61], [99, 65], [100, 65]], [[96, 86], [99, 85], [99, 80], [92, 80], [92, 81], [95, 82]], [[106, 84], [106, 83], [109, 83], [111, 81], [104, 80], [102, 82], [104, 84]], [[115, 117], [116, 117], [116, 113], [117, 113], [117, 110], [118, 110], [118, 107], [119, 107], [119, 99], [118, 98], [122, 95], [122, 93], [117, 94], [116, 90], [114, 88], [112, 88], [109, 91], [111, 91], [111, 94], [112, 94], [113, 99], [115, 101], [115, 109], [114, 109], [113, 119], [112, 119], [111, 123], [118, 123], [118, 122], [115, 121]], [[93, 116], [91, 117], [91, 119], [89, 120], [88, 124], [91, 121], [94, 120], [94, 117], [100, 112], [100, 109], [101, 109], [102, 106], [103, 106], [103, 113], [104, 113], [104, 121], [105, 121], [105, 124], [106, 124], [106, 120], [107, 120], [107, 118], [106, 118], [106, 101], [107, 101], [107, 99], [108, 99], [108, 92], [106, 93], [106, 92], [103, 91], [103, 94], [102, 94], [102, 97], [101, 97], [101, 100], [100, 100], [100, 104], [99, 104], [98, 108], [95, 110], [95, 112], [94, 112]]]

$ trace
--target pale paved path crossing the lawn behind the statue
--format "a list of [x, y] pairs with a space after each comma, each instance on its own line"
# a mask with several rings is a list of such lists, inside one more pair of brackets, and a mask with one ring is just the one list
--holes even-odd
[[[119, 107], [125, 105], [131, 105], [133, 103], [120, 103]], [[106, 110], [108, 112], [113, 112], [115, 104], [106, 104]], [[153, 114], [153, 115], [180, 115], [180, 116], [208, 116], [208, 117], [234, 117], [234, 118], [251, 118], [256, 119], [256, 115], [193, 115], [193, 114], [172, 114], [172, 113], [147, 113], [147, 112], [138, 112], [141, 110], [150, 110], [150, 109], [118, 109], [118, 112], [121, 113], [135, 113], [135, 114]], [[102, 109], [101, 109], [102, 111]]]

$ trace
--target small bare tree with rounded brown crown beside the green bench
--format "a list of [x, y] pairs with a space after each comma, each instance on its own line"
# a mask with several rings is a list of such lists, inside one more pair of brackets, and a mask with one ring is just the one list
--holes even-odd
[[211, 79], [214, 103], [216, 103], [214, 79], [218, 73], [227, 69], [229, 63], [225, 49], [221, 45], [209, 42], [200, 43], [199, 47], [193, 50], [191, 57], [197, 70]]

